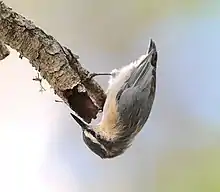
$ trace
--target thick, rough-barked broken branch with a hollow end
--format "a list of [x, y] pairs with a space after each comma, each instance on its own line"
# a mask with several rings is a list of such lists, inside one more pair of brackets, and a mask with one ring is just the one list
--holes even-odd
[[[105, 93], [82, 68], [78, 57], [52, 36], [0, 1], [0, 40], [2, 46], [26, 57], [73, 111], [90, 123], [102, 110]], [[7, 48], [7, 47], [6, 47]], [[9, 54], [9, 52], [8, 52]]]

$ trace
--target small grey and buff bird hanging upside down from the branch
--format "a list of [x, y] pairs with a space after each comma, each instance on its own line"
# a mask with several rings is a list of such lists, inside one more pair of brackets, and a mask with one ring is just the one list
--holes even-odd
[[110, 73], [101, 121], [91, 125], [71, 113], [82, 128], [85, 144], [102, 159], [124, 154], [147, 122], [156, 93], [158, 53], [150, 39], [147, 52], [137, 60]]

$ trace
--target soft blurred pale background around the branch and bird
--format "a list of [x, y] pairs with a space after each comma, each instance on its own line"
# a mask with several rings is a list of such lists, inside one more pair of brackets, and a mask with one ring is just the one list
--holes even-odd
[[[5, 0], [91, 72], [137, 59], [155, 40], [157, 95], [124, 155], [102, 160], [70, 110], [18, 53], [0, 62], [0, 191], [219, 192], [220, 1]], [[97, 81], [106, 88], [107, 77]]]

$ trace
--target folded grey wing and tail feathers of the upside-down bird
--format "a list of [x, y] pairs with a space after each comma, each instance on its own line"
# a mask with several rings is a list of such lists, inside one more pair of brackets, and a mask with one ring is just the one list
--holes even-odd
[[[144, 126], [155, 98], [157, 51], [152, 40], [148, 53], [116, 96], [120, 119], [124, 124], [128, 124], [131, 133], [137, 126]], [[128, 129], [126, 131], [128, 132]]]

